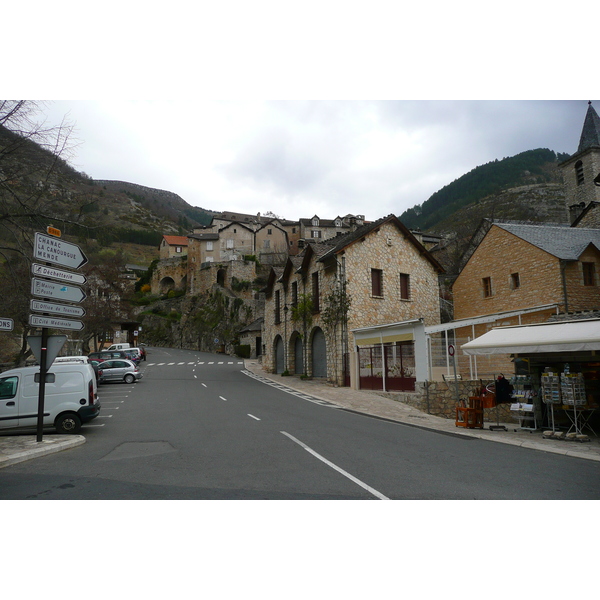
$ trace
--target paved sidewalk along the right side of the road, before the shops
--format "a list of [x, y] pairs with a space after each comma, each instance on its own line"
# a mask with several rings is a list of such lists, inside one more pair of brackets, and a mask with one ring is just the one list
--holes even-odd
[[388, 419], [413, 427], [431, 429], [454, 435], [466, 435], [502, 444], [512, 444], [513, 446], [521, 446], [522, 448], [542, 450], [544, 452], [553, 452], [555, 454], [600, 462], [600, 439], [597, 437], [590, 436], [589, 439], [591, 441], [589, 442], [544, 439], [543, 430], [532, 432], [521, 430], [518, 429], [518, 425], [515, 423], [500, 423], [508, 431], [490, 431], [489, 426], [496, 425], [496, 422], [484, 423], [485, 429], [465, 429], [457, 427], [454, 420], [428, 415], [402, 402], [384, 398], [375, 392], [334, 387], [320, 380], [282, 377], [281, 375], [274, 375], [273, 373], [264, 371], [262, 365], [257, 360], [246, 359], [244, 362], [246, 369], [254, 373], [257, 377], [302, 392], [313, 398], [331, 402], [349, 411]]

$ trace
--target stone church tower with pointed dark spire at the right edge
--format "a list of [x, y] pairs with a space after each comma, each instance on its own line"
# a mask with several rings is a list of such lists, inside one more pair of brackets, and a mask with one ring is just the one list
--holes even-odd
[[[574, 223], [584, 212], [600, 203], [600, 117], [591, 102], [588, 103], [579, 148], [560, 164], [560, 169], [565, 200]], [[593, 212], [597, 215], [600, 211], [596, 209]]]

